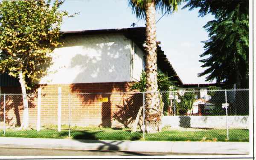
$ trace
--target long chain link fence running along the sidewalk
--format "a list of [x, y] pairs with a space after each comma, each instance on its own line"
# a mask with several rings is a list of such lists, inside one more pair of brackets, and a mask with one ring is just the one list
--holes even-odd
[[[249, 141], [249, 90], [38, 93], [27, 97], [29, 128], [24, 129], [20, 128], [22, 95], [0, 94], [0, 136]], [[158, 107], [151, 108], [148, 101]]]

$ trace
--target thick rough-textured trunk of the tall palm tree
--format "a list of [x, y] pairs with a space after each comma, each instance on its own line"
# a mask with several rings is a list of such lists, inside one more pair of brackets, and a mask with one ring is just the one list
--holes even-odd
[[148, 3], [146, 6], [146, 111], [145, 125], [147, 133], [160, 131], [160, 99], [157, 93], [157, 40], [156, 40], [156, 21], [155, 4]]

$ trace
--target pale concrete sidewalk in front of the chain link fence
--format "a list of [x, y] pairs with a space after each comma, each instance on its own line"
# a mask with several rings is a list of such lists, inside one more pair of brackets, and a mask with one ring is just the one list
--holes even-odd
[[191, 154], [249, 154], [248, 142], [166, 142], [0, 137], [0, 147], [116, 150]]

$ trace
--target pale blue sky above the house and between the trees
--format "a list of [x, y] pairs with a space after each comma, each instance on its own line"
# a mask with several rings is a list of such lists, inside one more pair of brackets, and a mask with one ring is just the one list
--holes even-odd
[[[157, 41], [161, 41], [162, 50], [183, 83], [209, 83], [205, 77], [197, 76], [204, 71], [198, 60], [204, 52], [200, 41], [208, 39], [203, 26], [214, 17], [198, 17], [198, 9], [180, 8], [157, 23]], [[75, 17], [64, 19], [62, 31], [128, 28], [138, 21], [128, 6], [128, 0], [66, 0], [61, 9], [70, 14], [80, 12]], [[156, 19], [161, 16], [161, 12], [157, 13]], [[137, 26], [145, 26], [145, 20], [140, 20]]]

